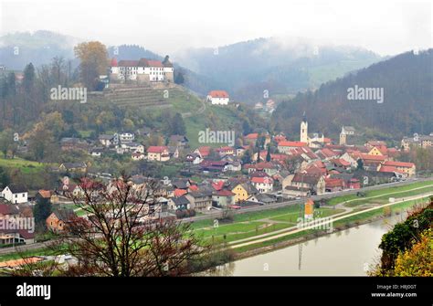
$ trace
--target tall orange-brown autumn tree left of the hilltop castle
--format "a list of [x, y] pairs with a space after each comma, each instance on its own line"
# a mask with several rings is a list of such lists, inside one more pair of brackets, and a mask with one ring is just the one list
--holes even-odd
[[89, 90], [95, 90], [100, 75], [107, 74], [107, 48], [99, 41], [80, 43], [74, 47], [75, 56], [79, 58], [80, 79]]

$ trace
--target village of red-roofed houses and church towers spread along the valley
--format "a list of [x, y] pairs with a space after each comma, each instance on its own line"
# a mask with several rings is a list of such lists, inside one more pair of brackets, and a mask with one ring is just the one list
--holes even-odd
[[[216, 91], [209, 93], [206, 100], [214, 103], [215, 96], [216, 104], [228, 103], [227, 93]], [[354, 145], [353, 127], [343, 126], [336, 141], [309, 133], [305, 113], [300, 121], [298, 139], [283, 133], [252, 132], [242, 136], [243, 145], [190, 148], [185, 135], [172, 135], [167, 145], [146, 147], [141, 140], [153, 132], [146, 128], [101, 134], [98, 142], [63, 138], [60, 145], [62, 151], [85, 151], [93, 158], [107, 153], [126, 154], [136, 163], [180, 165], [182, 170], [173, 177], [132, 174], [129, 178], [137, 190], [157, 182], [158, 208], [148, 216], [154, 219], [206, 216], [218, 210], [268, 206], [412, 179], [417, 175], [416, 165], [399, 162], [399, 153], [433, 145], [432, 134], [405, 138], [401, 148], [375, 140]], [[91, 173], [84, 162], [63, 163], [51, 171], [58, 174], [59, 180], [49, 190], [29, 191], [23, 185], [6, 185], [0, 193], [0, 218], [31, 218], [32, 207], [45, 201], [52, 206], [45, 220], [48, 231], [62, 231], [70, 220], [88, 217], [69, 198], [83, 195], [79, 178], [91, 177], [106, 185], [115, 178], [110, 173]], [[35, 235], [25, 229], [3, 228], [0, 245], [32, 244], [37, 241]]]

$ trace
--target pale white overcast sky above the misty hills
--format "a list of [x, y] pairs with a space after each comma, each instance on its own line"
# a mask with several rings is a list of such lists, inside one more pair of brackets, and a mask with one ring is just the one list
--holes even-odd
[[[424, 2], [423, 2], [424, 1]], [[431, 1], [0, 0], [0, 34], [51, 30], [160, 54], [258, 37], [305, 37], [381, 55], [432, 46]]]

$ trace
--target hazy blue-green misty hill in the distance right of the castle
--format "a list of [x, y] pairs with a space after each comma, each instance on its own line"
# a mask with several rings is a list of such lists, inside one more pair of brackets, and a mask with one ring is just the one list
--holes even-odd
[[315, 47], [301, 41], [259, 38], [226, 47], [188, 49], [176, 55], [184, 67], [213, 81], [237, 100], [259, 101], [263, 90], [296, 93], [381, 58], [357, 47]]

